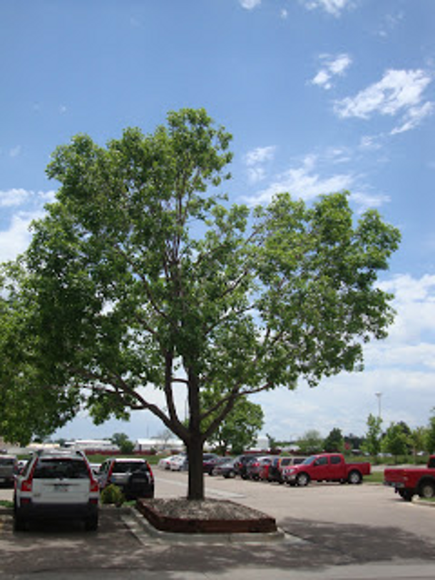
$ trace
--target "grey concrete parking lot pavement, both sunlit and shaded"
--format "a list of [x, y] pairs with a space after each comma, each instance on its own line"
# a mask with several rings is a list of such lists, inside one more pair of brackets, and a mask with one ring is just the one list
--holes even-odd
[[[156, 497], [185, 497], [187, 474], [155, 469]], [[280, 541], [216, 544], [150, 536], [128, 511], [105, 508], [97, 532], [77, 524], [14, 534], [0, 518], [0, 575], [81, 578], [433, 578], [435, 511], [379, 485], [287, 487], [205, 476], [208, 497], [230, 499], [277, 519]], [[0, 497], [11, 496], [1, 490]], [[294, 575], [293, 575], [294, 574]], [[29, 575], [29, 576], [28, 576]], [[113, 576], [112, 576], [113, 575]]]

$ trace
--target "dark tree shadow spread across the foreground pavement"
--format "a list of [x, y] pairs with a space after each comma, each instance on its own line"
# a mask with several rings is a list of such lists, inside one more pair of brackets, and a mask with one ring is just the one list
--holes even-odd
[[[97, 532], [81, 524], [34, 525], [14, 533], [1, 517], [0, 576], [51, 571], [160, 572], [162, 580], [182, 571], [225, 574], [244, 568], [321, 569], [374, 561], [434, 561], [434, 544], [385, 526], [372, 528], [285, 519], [282, 529], [300, 541], [267, 544], [169, 544], [142, 532], [137, 536], [121, 513], [103, 510]], [[110, 574], [109, 574], [110, 576]], [[121, 574], [119, 575], [121, 577]], [[96, 576], [95, 576], [96, 577]], [[130, 577], [130, 576], [124, 576]]]

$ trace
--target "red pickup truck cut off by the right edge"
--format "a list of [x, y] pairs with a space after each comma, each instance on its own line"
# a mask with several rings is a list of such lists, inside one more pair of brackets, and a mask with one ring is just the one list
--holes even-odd
[[435, 455], [429, 457], [427, 467], [395, 467], [384, 470], [384, 484], [394, 487], [406, 502], [414, 495], [435, 497]]

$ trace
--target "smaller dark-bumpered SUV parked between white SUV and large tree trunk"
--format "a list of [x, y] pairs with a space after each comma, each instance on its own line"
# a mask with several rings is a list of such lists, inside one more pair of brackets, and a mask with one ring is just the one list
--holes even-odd
[[153, 471], [146, 459], [111, 457], [101, 464], [98, 473], [100, 488], [117, 485], [126, 499], [154, 497]]

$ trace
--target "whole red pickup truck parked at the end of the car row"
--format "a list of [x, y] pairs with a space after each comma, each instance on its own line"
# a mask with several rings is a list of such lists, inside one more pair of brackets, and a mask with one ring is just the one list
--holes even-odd
[[310, 481], [360, 484], [370, 471], [367, 462], [346, 463], [341, 453], [321, 453], [307, 457], [299, 465], [287, 467], [282, 478], [290, 485], [308, 485]]

